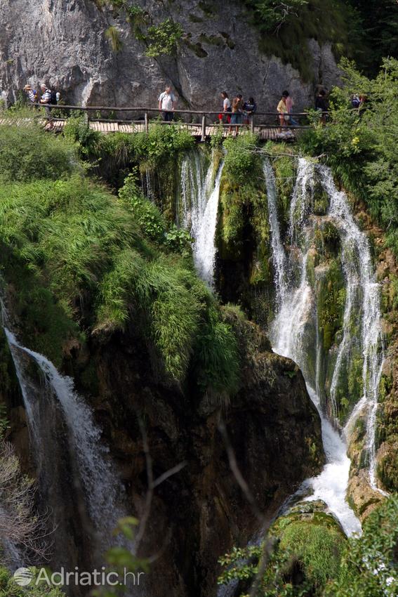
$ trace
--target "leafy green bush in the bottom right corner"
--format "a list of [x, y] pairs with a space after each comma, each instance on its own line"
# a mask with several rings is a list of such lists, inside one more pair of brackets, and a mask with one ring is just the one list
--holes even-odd
[[362, 537], [349, 539], [330, 597], [393, 597], [398, 593], [398, 497], [366, 518]]

